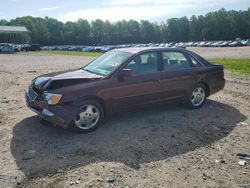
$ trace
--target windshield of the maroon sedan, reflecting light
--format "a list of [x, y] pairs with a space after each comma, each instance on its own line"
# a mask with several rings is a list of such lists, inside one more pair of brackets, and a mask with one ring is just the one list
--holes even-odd
[[117, 69], [130, 56], [130, 53], [110, 51], [96, 58], [86, 67], [84, 67], [83, 70], [95, 74], [108, 75]]

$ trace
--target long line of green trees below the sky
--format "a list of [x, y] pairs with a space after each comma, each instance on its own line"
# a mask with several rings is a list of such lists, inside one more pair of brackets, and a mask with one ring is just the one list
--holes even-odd
[[104, 45], [129, 43], [187, 42], [250, 38], [250, 7], [245, 11], [220, 9], [190, 18], [170, 18], [165, 22], [146, 20], [62, 23], [54, 18], [19, 17], [0, 20], [0, 25], [25, 26], [23, 41], [42, 45]]

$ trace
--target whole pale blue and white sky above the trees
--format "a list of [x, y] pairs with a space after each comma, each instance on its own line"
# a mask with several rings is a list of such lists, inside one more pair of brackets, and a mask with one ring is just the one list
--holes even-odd
[[247, 10], [250, 0], [0, 0], [0, 19], [52, 17], [62, 22], [109, 20], [166, 21], [172, 17], [205, 15], [210, 11]]

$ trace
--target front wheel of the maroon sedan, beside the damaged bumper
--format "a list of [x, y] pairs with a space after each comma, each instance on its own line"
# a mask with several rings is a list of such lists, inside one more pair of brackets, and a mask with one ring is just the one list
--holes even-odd
[[96, 100], [84, 100], [79, 108], [81, 112], [73, 118], [70, 124], [71, 131], [78, 133], [92, 132], [103, 122], [104, 110]]

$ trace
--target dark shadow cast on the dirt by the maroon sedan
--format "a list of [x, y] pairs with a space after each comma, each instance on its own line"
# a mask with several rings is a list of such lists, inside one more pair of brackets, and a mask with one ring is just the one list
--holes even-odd
[[11, 153], [28, 178], [103, 161], [138, 169], [216, 142], [245, 119], [238, 109], [212, 100], [199, 110], [158, 105], [121, 113], [88, 134], [44, 126], [32, 116], [14, 127]]

